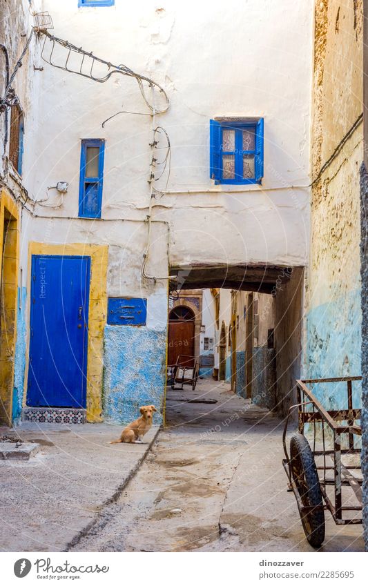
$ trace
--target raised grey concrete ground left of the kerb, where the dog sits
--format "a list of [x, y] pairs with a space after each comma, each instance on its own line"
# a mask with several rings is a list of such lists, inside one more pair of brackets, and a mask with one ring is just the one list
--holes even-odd
[[0, 436], [36, 442], [29, 461], [0, 461], [0, 551], [65, 551], [99, 509], [117, 497], [155, 438], [109, 445], [121, 425], [23, 422]]

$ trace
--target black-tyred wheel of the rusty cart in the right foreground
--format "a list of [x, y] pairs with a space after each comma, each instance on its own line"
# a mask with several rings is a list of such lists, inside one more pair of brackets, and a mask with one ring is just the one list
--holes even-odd
[[290, 440], [290, 459], [293, 480], [304, 507], [319, 507], [300, 512], [304, 533], [312, 547], [320, 547], [325, 539], [325, 511], [323, 510], [320, 479], [311, 447], [301, 433]]

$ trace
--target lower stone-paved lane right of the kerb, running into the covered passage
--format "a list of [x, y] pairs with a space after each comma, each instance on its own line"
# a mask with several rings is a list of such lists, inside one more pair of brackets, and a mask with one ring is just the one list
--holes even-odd
[[[282, 420], [209, 380], [194, 393], [168, 390], [166, 420], [137, 475], [71, 551], [313, 551], [287, 492]], [[361, 525], [326, 520], [322, 551], [364, 551]]]

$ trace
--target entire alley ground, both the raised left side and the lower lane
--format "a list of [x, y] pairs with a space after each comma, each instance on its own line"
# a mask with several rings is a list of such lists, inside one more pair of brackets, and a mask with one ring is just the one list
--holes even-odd
[[[282, 419], [213, 380], [168, 389], [166, 416], [149, 452], [157, 429], [144, 445], [108, 445], [122, 429], [109, 424], [0, 429], [41, 444], [0, 462], [0, 549], [313, 551], [287, 492]], [[321, 549], [364, 551], [361, 525], [326, 513]]]

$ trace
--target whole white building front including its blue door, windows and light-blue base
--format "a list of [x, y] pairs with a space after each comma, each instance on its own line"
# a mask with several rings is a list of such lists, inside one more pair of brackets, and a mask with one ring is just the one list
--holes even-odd
[[[30, 42], [28, 93], [19, 90], [17, 182], [27, 197], [19, 187], [12, 420], [22, 410], [55, 420], [67, 412], [78, 418], [82, 409], [91, 422], [124, 421], [139, 404], [162, 407], [168, 277], [179, 271], [175, 288], [193, 270], [205, 271], [197, 286], [209, 289], [220, 286], [211, 283], [213, 268], [227, 274], [247, 266], [263, 286], [269, 267], [302, 268], [309, 254], [313, 3], [90, 5], [32, 6], [50, 12], [49, 35], [110, 66], [42, 32]], [[29, 36], [32, 18], [25, 26]], [[129, 72], [110, 75], [121, 64], [164, 91]], [[252, 129], [261, 120], [257, 150], [262, 137]], [[215, 173], [210, 121], [251, 128], [249, 148], [238, 148], [239, 133], [220, 145]], [[75, 297], [73, 271], [84, 281]], [[205, 337], [215, 338], [212, 315], [208, 321]], [[37, 356], [40, 340], [32, 342], [37, 335], [47, 338], [46, 354], [57, 355], [50, 372]], [[48, 396], [57, 376], [59, 391]]]

